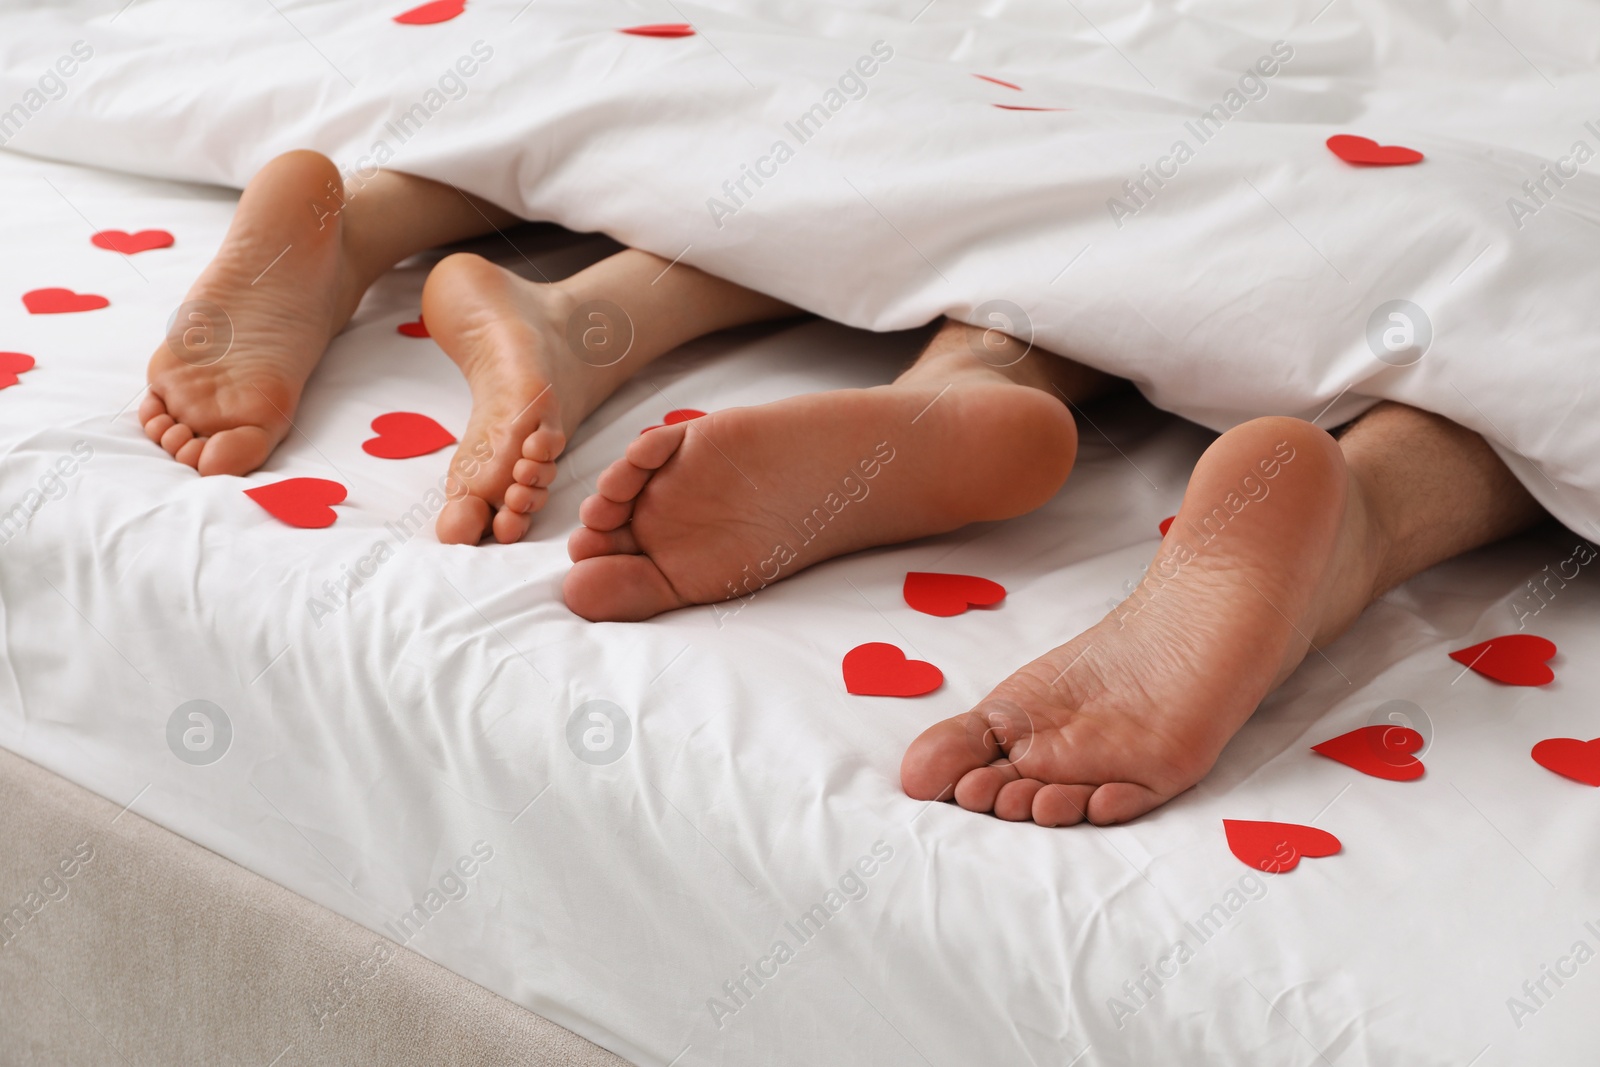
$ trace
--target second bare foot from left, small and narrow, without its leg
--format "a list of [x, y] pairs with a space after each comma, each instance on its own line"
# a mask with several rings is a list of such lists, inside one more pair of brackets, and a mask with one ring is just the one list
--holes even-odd
[[597, 387], [594, 368], [568, 350], [571, 312], [560, 286], [470, 253], [427, 275], [427, 330], [472, 387], [472, 418], [450, 466], [461, 488], [435, 525], [442, 542], [477, 544], [493, 531], [512, 544], [544, 507], [566, 432], [594, 406], [587, 394]]

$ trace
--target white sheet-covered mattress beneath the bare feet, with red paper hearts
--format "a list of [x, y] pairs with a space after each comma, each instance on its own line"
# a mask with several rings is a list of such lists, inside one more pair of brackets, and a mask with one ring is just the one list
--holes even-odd
[[[1206, 430], [1107, 402], [1035, 514], [835, 560], [733, 614], [589, 624], [558, 597], [565, 537], [643, 427], [888, 381], [925, 333], [808, 320], [688, 346], [574, 437], [526, 539], [448, 547], [405, 522], [445, 454], [362, 450], [389, 411], [464, 426], [453, 365], [397, 333], [432, 256], [370, 293], [264, 470], [202, 480], [133, 410], [234, 194], [14, 154], [0, 190], [0, 349], [35, 360], [0, 389], [11, 752], [637, 1064], [1586, 1062], [1600, 809], [1528, 757], [1595, 733], [1600, 584], [1550, 579], [1571, 574], [1562, 528], [1386, 595], [1157, 813], [1003, 824], [909, 800], [906, 745], [1131, 589]], [[170, 248], [90, 240], [157, 227]], [[510, 243], [478, 248], [550, 275], [610, 248]], [[109, 306], [27, 314], [43, 286]], [[286, 477], [347, 485], [338, 522], [294, 530], [243, 493]], [[918, 614], [907, 571], [1008, 597]], [[1558, 645], [1552, 683], [1448, 656], [1518, 624]], [[942, 688], [848, 694], [864, 641]], [[1418, 781], [1309, 750], [1397, 707], [1429, 742]], [[1266, 875], [1224, 819], [1342, 851]]]

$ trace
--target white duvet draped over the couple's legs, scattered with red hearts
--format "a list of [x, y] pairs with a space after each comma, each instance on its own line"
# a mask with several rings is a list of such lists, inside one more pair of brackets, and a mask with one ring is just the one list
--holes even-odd
[[[403, 8], [11, 5], [0, 136], [235, 187], [317, 147], [837, 322], [1030, 333], [1213, 429], [1400, 400], [1600, 533], [1592, 3]], [[1427, 158], [1352, 166], [1333, 134]]]

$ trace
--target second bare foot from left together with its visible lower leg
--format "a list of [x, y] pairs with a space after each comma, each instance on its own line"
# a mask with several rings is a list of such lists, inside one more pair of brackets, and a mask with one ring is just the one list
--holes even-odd
[[459, 253], [427, 277], [422, 314], [472, 386], [451, 464], [466, 491], [440, 512], [438, 539], [510, 544], [544, 506], [566, 435], [627, 378], [694, 338], [797, 312], [630, 248], [552, 285]]

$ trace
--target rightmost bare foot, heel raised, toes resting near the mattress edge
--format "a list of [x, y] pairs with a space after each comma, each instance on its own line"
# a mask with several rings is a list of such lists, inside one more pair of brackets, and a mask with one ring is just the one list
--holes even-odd
[[1040, 825], [1123, 822], [1184, 792], [1371, 601], [1389, 539], [1370, 499], [1309, 422], [1229, 430], [1134, 593], [923, 731], [906, 792]]

